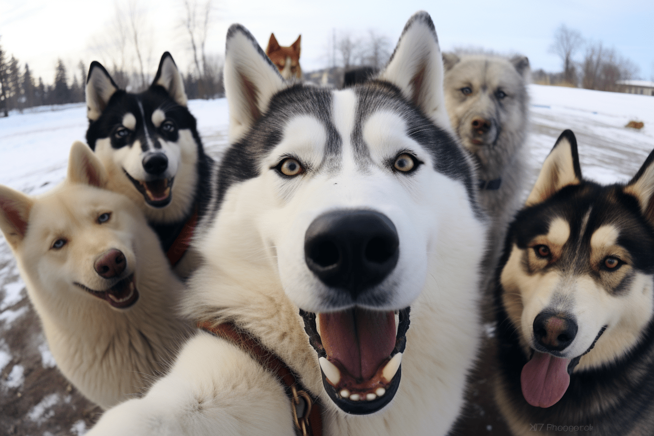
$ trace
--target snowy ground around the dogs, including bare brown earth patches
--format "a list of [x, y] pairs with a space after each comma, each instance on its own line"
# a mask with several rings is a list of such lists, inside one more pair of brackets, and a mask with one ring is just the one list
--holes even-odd
[[[627, 180], [654, 148], [654, 98], [553, 86], [530, 86], [528, 148], [534, 178], [563, 129], [577, 135], [581, 169], [599, 182]], [[226, 145], [224, 99], [190, 101], [209, 154]], [[629, 129], [630, 120], [645, 127]], [[39, 108], [0, 118], [0, 184], [26, 193], [65, 176], [73, 141], [84, 141], [83, 104]], [[0, 434], [82, 435], [98, 409], [56, 371], [11, 252], [0, 236]], [[494, 428], [484, 424], [487, 434]]]

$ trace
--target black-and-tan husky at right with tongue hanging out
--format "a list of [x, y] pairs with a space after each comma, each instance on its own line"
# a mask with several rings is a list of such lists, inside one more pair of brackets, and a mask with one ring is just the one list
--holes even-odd
[[498, 269], [496, 399], [516, 435], [654, 434], [653, 205], [654, 152], [601, 186], [560, 135]]

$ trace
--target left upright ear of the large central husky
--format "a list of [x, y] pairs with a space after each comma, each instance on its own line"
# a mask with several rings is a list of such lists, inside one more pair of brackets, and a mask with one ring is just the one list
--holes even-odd
[[227, 31], [224, 71], [230, 109], [229, 141], [234, 143], [266, 112], [271, 97], [288, 84], [240, 24], [232, 24]]

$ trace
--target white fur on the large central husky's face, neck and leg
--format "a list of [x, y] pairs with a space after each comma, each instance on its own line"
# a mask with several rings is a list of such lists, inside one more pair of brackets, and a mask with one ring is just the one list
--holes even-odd
[[[250, 71], [247, 79], [268, 90], [266, 95], [277, 86], [277, 73], [268, 71], [256, 50], [235, 53], [234, 41], [242, 42], [243, 51], [252, 46], [245, 35], [228, 40], [225, 77], [232, 139], [254, 121], [250, 109], [267, 105], [266, 99], [242, 98], [243, 88], [231, 82], [236, 72]], [[432, 56], [440, 59], [438, 50]], [[430, 71], [428, 78], [438, 81]], [[349, 143], [356, 96], [349, 90], [332, 95], [333, 122], [343, 138], [339, 171], [280, 179], [271, 166], [289, 153], [307, 167], [317, 166], [324, 156], [326, 132], [318, 120], [289, 120], [281, 143], [263, 159], [260, 175], [230, 186], [215, 220], [196, 241], [205, 263], [190, 280], [185, 312], [198, 320], [236, 322], [273, 350], [319, 397], [326, 436], [444, 435], [460, 411], [479, 340], [477, 284], [485, 228], [464, 186], [433, 170], [430, 154], [408, 137], [398, 114], [371, 116], [364, 141], [377, 144], [371, 148], [371, 164], [359, 169]], [[377, 134], [384, 126], [395, 128]], [[424, 162], [410, 178], [384, 163], [406, 147]], [[329, 309], [320, 298], [326, 288], [305, 264], [303, 241], [307, 226], [334, 209], [377, 210], [394, 222], [400, 259], [377, 285], [393, 284], [392, 298], [375, 309], [411, 305], [398, 392], [387, 407], [364, 416], [345, 414], [324, 391], [318, 356], [298, 314], [298, 307]], [[88, 435], [291, 435], [289, 416], [290, 402], [279, 382], [242, 350], [198, 333], [146, 397], [107, 412]]]

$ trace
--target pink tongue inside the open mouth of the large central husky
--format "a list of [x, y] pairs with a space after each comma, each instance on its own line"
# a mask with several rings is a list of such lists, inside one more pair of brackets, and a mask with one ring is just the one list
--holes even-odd
[[369, 380], [395, 348], [394, 312], [351, 309], [321, 313], [320, 339], [329, 360], [354, 378]]

